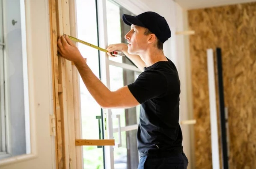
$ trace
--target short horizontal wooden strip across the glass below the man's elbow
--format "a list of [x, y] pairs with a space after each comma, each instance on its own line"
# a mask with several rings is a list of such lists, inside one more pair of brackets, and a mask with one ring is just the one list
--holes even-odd
[[75, 140], [76, 146], [115, 146], [114, 139], [104, 140]]

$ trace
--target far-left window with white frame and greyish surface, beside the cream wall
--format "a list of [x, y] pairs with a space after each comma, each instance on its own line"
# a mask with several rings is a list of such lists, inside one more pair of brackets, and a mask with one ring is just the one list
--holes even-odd
[[23, 7], [0, 0], [0, 159], [30, 153]]

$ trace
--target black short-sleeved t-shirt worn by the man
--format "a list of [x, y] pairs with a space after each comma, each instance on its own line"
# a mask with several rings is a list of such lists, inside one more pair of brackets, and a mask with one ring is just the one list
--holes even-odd
[[144, 72], [128, 88], [141, 104], [137, 132], [140, 157], [182, 152], [180, 81], [173, 62], [168, 59], [144, 68]]

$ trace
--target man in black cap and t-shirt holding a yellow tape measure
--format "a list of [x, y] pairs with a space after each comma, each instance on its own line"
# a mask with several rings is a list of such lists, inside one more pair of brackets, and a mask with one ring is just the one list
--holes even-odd
[[[144, 72], [134, 83], [111, 92], [92, 73], [77, 47], [62, 36], [60, 54], [74, 62], [90, 94], [102, 108], [130, 108], [141, 104], [137, 132], [140, 163], [138, 169], [186, 169], [179, 126], [180, 82], [176, 66], [164, 56], [163, 43], [171, 37], [164, 17], [145, 12], [136, 17], [123, 14], [131, 30], [126, 44], [107, 47], [108, 52], [122, 51]], [[110, 53], [108, 53], [112, 56]]]

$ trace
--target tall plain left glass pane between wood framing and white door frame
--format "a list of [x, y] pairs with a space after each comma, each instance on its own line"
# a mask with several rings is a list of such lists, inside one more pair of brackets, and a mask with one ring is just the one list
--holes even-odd
[[[98, 45], [97, 19], [95, 0], [76, 0], [77, 8], [77, 38], [88, 43]], [[98, 50], [78, 43], [78, 49], [83, 57], [87, 58], [87, 64], [92, 72], [99, 77]], [[101, 108], [80, 78], [80, 98], [83, 139], [102, 138], [101, 129]], [[100, 123], [99, 123], [100, 122]], [[103, 148], [97, 146], [83, 146], [84, 169], [103, 169], [104, 156]]]

